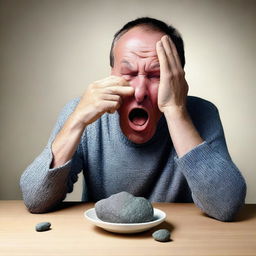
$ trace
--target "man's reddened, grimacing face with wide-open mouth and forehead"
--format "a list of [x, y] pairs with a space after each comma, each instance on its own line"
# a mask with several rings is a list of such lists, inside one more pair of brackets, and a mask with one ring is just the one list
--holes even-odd
[[162, 115], [157, 105], [160, 66], [156, 43], [164, 35], [147, 27], [134, 27], [116, 42], [111, 74], [122, 76], [135, 89], [123, 97], [119, 108], [120, 126], [134, 143], [145, 143], [155, 134]]

